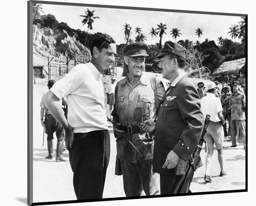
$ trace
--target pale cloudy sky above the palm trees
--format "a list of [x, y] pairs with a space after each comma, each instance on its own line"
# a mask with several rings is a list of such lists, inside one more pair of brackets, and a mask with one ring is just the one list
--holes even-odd
[[[218, 37], [231, 39], [228, 31], [229, 27], [238, 24], [241, 21], [240, 16], [227, 15], [209, 15], [209, 14], [193, 14], [193, 13], [174, 13], [174, 12], [159, 12], [159, 11], [142, 11], [130, 9], [116, 8], [99, 8], [99, 7], [79, 7], [79, 6], [64, 6], [64, 5], [49, 5], [42, 4], [44, 14], [51, 13], [59, 22], [66, 22], [67, 25], [74, 29], [87, 31], [87, 24], [82, 26], [81, 21], [85, 15], [85, 11], [94, 10], [94, 16], [99, 16], [100, 19], [94, 20], [93, 29], [89, 33], [101, 32], [112, 36], [117, 44], [125, 43], [123, 25], [128, 23], [132, 27], [132, 39], [135, 39], [135, 27], [141, 27], [142, 32], [147, 36], [147, 44], [155, 44], [159, 42], [160, 37], [153, 37], [149, 34], [152, 27], [156, 28], [161, 22], [166, 24], [166, 35], [163, 35], [162, 44], [165, 41], [172, 40], [170, 31], [172, 28], [180, 30], [178, 40], [189, 39], [195, 42], [198, 36], [195, 34], [195, 29], [201, 28], [202, 35], [200, 42], [206, 38], [215, 40], [217, 44]], [[236, 41], [239, 42], [238, 38]]]

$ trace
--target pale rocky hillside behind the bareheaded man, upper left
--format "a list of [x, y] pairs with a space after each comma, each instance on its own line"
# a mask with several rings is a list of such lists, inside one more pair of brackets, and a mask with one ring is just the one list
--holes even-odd
[[47, 65], [48, 56], [58, 57], [60, 54], [68, 57], [89, 56], [90, 51], [66, 31], [60, 33], [33, 25], [33, 65]]

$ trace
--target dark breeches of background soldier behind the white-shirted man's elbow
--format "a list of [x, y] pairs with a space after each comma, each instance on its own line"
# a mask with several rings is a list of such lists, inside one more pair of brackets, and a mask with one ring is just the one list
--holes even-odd
[[47, 133], [47, 140], [54, 139], [54, 132], [58, 141], [62, 141], [64, 137], [64, 129], [61, 123], [58, 122], [52, 114], [47, 114], [45, 118], [45, 133]]

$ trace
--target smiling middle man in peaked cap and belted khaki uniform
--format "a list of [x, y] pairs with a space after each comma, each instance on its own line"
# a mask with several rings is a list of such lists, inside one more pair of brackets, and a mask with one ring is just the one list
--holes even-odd
[[146, 195], [155, 195], [160, 189], [159, 176], [152, 172], [154, 140], [149, 131], [141, 130], [141, 123], [153, 120], [157, 104], [165, 93], [165, 82], [144, 72], [147, 49], [147, 44], [139, 42], [122, 49], [127, 77], [115, 87], [112, 115], [114, 124], [119, 125], [114, 126], [117, 164], [120, 161], [127, 197], [140, 196], [143, 190]]

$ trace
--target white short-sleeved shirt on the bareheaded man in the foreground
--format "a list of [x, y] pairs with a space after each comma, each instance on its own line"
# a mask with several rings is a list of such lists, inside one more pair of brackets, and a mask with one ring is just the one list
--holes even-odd
[[67, 121], [74, 133], [108, 129], [103, 76], [92, 63], [74, 66], [51, 91], [59, 99], [67, 96]]

